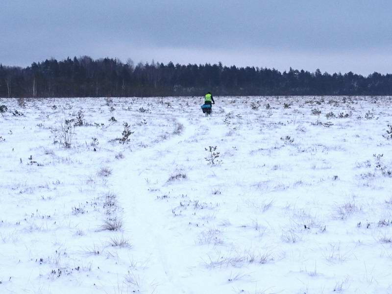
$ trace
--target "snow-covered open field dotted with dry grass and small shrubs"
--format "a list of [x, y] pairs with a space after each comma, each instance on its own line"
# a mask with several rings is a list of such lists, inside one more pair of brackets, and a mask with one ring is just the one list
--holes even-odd
[[392, 293], [391, 99], [216, 102], [0, 99], [0, 293]]

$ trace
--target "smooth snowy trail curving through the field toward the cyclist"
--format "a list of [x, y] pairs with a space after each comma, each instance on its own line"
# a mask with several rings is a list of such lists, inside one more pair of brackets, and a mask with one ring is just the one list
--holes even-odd
[[[184, 281], [192, 275], [191, 271], [196, 267], [198, 257], [190, 256], [192, 250], [188, 246], [192, 244], [186, 244], [189, 240], [185, 242], [181, 233], [173, 228], [175, 220], [172, 220], [174, 218], [167, 203], [160, 202], [156, 194], [148, 191], [151, 188], [149, 181], [156, 181], [155, 188], [158, 189], [165, 185], [163, 177], [167, 180], [169, 175], [166, 172], [160, 175], [162, 172], [155, 169], [172, 164], [178, 156], [184, 156], [187, 150], [178, 148], [178, 144], [184, 144], [184, 140], [196, 133], [196, 125], [188, 119], [179, 118], [177, 122], [184, 126], [180, 135], [172, 135], [156, 146], [130, 153], [116, 167], [119, 172], [113, 179], [124, 211], [124, 234], [133, 245], [133, 258], [147, 260], [147, 268], [139, 276], [147, 285], [141, 287], [155, 289], [154, 293], [195, 293], [194, 286], [187, 285]], [[203, 127], [203, 124], [198, 127]], [[179, 152], [170, 152], [174, 149]], [[156, 167], [152, 170], [147, 165], [150, 160], [146, 159], [157, 153], [162, 154], [162, 157], [156, 161]]]

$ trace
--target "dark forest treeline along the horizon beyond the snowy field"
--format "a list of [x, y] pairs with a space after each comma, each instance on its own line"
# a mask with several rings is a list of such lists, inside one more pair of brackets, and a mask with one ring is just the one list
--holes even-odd
[[0, 64], [0, 97], [391, 95], [392, 74], [279, 72], [218, 64], [126, 63], [89, 56], [21, 68]]

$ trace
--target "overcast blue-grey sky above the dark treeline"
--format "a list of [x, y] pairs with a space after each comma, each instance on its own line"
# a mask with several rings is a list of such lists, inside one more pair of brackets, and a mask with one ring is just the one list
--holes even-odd
[[2, 0], [0, 62], [90, 55], [392, 73], [391, 0]]

